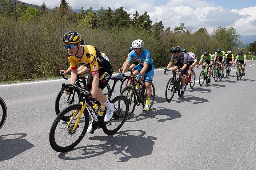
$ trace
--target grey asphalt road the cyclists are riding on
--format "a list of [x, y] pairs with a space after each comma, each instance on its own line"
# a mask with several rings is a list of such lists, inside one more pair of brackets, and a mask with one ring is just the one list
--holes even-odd
[[[198, 80], [201, 68], [195, 71]], [[136, 107], [115, 135], [99, 129], [67, 153], [51, 148], [49, 129], [61, 82], [69, 80], [0, 86], [8, 107], [0, 169], [256, 169], [255, 72], [256, 61], [248, 61], [241, 81], [231, 71], [167, 102], [171, 74], [156, 70], [151, 111]]]

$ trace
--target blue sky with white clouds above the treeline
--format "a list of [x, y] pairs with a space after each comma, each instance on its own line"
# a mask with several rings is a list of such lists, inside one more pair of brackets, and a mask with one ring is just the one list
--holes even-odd
[[[60, 0], [22, 0], [29, 4], [48, 8], [59, 5]], [[214, 27], [234, 27], [240, 35], [256, 35], [256, 0], [67, 0], [73, 9], [97, 10], [103, 7], [112, 10], [124, 7], [131, 16], [137, 10], [145, 11], [153, 23], [162, 21], [165, 28], [179, 26], [197, 30], [206, 27], [211, 33]]]

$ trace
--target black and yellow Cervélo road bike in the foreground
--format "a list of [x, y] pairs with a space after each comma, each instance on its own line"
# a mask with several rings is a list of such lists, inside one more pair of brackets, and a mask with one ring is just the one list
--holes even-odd
[[[111, 90], [115, 87], [115, 84], [118, 80], [123, 80], [123, 76], [116, 76], [111, 78], [114, 80], [114, 84]], [[76, 86], [74, 84], [62, 84], [63, 88], [68, 88], [72, 92], [73, 90], [76, 93], [79, 93], [82, 97], [80, 104], [75, 104], [68, 106], [60, 112], [60, 114], [55, 118], [52, 123], [52, 127], [49, 134], [49, 142], [51, 147], [57, 152], [67, 152], [74, 148], [79, 142], [83, 139], [87, 128], [89, 126], [90, 114], [92, 120], [92, 128], [94, 130], [102, 128], [104, 133], [107, 135], [112, 135], [116, 133], [124, 124], [125, 119], [127, 118], [129, 103], [128, 99], [119, 95], [111, 100], [115, 105], [113, 112], [113, 117], [108, 122], [104, 122], [104, 116], [106, 114], [106, 109], [103, 113], [103, 116], [97, 115], [96, 104], [93, 107], [87, 105], [86, 101], [88, 100], [91, 93], [84, 88]], [[104, 93], [108, 95], [109, 93]], [[70, 120], [63, 120], [64, 116], [70, 116]]]

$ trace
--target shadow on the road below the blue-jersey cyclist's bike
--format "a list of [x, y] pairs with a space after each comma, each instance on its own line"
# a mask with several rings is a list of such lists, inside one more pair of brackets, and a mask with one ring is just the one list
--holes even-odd
[[[168, 118], [160, 119], [157, 118], [157, 116], [168, 116]], [[166, 109], [164, 107], [156, 107], [153, 109], [151, 108], [147, 112], [142, 112], [139, 115], [132, 114], [131, 118], [126, 120], [126, 122], [137, 122], [144, 119], [157, 119], [157, 122], [165, 122], [167, 120], [173, 120], [177, 118], [181, 118], [180, 112], [176, 110]]]

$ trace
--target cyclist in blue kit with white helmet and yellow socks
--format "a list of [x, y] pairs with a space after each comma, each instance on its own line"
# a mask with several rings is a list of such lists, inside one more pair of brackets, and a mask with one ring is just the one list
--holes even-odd
[[146, 49], [143, 49], [144, 42], [141, 39], [136, 39], [132, 42], [132, 48], [133, 51], [129, 53], [129, 56], [127, 58], [127, 62], [125, 63], [123, 67], [122, 73], [119, 73], [118, 75], [124, 75], [124, 72], [127, 70], [129, 64], [132, 62], [132, 59], [135, 59], [139, 62], [138, 65], [133, 68], [133, 76], [136, 76], [136, 81], [139, 81], [141, 79], [141, 76], [145, 74], [145, 86], [147, 89], [147, 100], [145, 107], [143, 108], [143, 111], [149, 110], [149, 99], [152, 93], [151, 90], [151, 83], [153, 81], [154, 77], [154, 69], [155, 64], [152, 59], [152, 56], [150, 52]]

